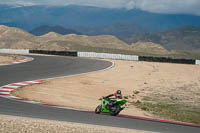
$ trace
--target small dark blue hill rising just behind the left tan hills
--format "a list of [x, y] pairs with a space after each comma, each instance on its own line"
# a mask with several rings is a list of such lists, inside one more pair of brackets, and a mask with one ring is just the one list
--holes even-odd
[[36, 35], [36, 36], [41, 36], [41, 35], [47, 34], [49, 32], [56, 32], [61, 35], [66, 35], [66, 34], [79, 34], [80, 35], [81, 34], [75, 30], [66, 29], [62, 26], [47, 26], [47, 25], [37, 27], [37, 28], [31, 30], [29, 33]]

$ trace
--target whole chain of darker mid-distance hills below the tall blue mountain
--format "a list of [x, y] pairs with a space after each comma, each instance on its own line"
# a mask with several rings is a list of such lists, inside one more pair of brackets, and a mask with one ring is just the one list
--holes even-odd
[[162, 45], [168, 50], [200, 50], [200, 28], [190, 25], [153, 33], [145, 32], [145, 30], [139, 28], [139, 26], [130, 24], [114, 24], [98, 29], [80, 27], [75, 30], [67, 30], [61, 26], [41, 26], [30, 33], [34, 33], [34, 35], [43, 35], [48, 32], [56, 32], [59, 34], [82, 33], [89, 36], [113, 35], [129, 45], [137, 42], [153, 42]]

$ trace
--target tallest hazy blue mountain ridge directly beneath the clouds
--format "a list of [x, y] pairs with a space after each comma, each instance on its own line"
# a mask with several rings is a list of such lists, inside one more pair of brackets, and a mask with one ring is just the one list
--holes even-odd
[[183, 25], [200, 26], [200, 16], [75, 5], [27, 7], [0, 5], [0, 24], [16, 26], [26, 31], [41, 25], [59, 25], [72, 29], [78, 26], [93, 28], [113, 24], [135, 24], [151, 31], [161, 31]]

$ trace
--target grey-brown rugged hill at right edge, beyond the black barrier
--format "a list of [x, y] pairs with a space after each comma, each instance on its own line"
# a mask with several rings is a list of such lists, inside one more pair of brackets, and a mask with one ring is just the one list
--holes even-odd
[[200, 50], [200, 28], [182, 26], [158, 33], [137, 34], [124, 39], [132, 44], [136, 42], [153, 42], [169, 50]]

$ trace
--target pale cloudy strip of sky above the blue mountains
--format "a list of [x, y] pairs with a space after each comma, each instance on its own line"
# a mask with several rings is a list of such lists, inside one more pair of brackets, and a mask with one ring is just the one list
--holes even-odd
[[200, 16], [200, 0], [0, 0], [12, 5], [86, 5], [103, 8], [141, 9], [153, 13]]

